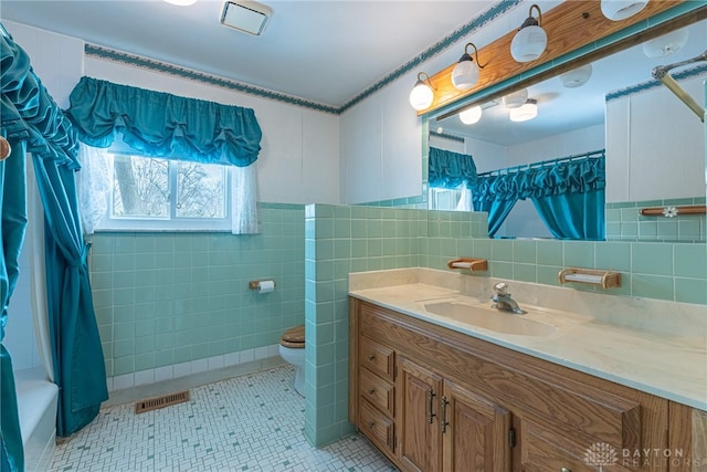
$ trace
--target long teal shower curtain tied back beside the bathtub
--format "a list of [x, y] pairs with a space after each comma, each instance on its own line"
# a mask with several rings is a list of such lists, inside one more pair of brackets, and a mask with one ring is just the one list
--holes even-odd
[[[74, 171], [80, 167], [76, 134], [34, 74], [27, 52], [1, 23], [0, 54], [1, 130], [13, 146], [12, 155], [3, 164], [2, 325], [18, 276], [17, 255], [27, 225], [22, 177], [27, 150], [32, 154], [46, 222], [48, 302], [54, 378], [59, 386], [57, 434], [68, 436], [87, 424], [98, 412], [101, 402], [108, 398], [103, 349], [91, 304], [85, 243], [75, 204]], [[22, 442], [12, 424], [17, 417], [13, 378], [11, 368], [6, 368], [10, 364], [6, 353], [3, 348], [2, 461], [10, 470], [22, 470]]]

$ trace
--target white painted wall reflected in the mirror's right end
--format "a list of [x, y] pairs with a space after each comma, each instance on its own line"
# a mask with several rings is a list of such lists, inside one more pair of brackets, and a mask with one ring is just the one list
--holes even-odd
[[[680, 86], [705, 103], [706, 77]], [[606, 104], [606, 202], [705, 195], [699, 118], [666, 87]]]

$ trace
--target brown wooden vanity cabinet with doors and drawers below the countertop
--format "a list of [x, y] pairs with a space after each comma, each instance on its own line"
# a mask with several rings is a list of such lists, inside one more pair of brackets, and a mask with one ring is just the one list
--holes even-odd
[[669, 470], [624, 460], [668, 448], [665, 399], [357, 298], [349, 319], [349, 418], [400, 470]]

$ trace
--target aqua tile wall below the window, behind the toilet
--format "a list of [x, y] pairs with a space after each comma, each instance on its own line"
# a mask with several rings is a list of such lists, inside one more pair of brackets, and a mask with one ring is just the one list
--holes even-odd
[[[304, 323], [304, 206], [260, 208], [261, 233], [93, 237], [91, 276], [109, 377], [277, 344]], [[258, 295], [249, 281], [273, 279]]]

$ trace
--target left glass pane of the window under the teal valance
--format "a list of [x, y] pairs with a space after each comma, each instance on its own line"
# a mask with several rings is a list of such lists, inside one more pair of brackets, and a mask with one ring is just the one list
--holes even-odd
[[168, 161], [113, 156], [113, 216], [169, 218]]

